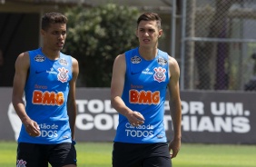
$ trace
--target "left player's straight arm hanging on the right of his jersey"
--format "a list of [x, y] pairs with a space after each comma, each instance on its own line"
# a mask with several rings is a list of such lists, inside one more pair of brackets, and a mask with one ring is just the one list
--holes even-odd
[[74, 126], [75, 126], [75, 118], [76, 118], [76, 103], [75, 103], [75, 83], [79, 74], [79, 64], [76, 59], [72, 58], [72, 69], [73, 69], [73, 78], [70, 81], [70, 90], [68, 93], [67, 100], [67, 113], [69, 116], [69, 124], [72, 132], [72, 139], [74, 140]]

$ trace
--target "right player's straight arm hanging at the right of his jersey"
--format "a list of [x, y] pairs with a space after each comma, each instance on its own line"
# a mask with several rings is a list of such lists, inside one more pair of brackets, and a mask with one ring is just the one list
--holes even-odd
[[170, 82], [168, 83], [169, 96], [170, 96], [170, 111], [172, 116], [173, 125], [173, 140], [170, 142], [169, 151], [172, 151], [172, 157], [176, 157], [181, 147], [181, 125], [182, 125], [182, 104], [180, 98], [180, 68], [177, 61], [169, 57], [169, 70], [170, 70]]

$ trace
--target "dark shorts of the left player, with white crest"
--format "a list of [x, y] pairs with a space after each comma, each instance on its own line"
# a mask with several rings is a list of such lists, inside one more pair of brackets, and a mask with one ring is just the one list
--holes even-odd
[[69, 142], [58, 144], [38, 144], [19, 142], [17, 147], [16, 165], [28, 167], [53, 167], [67, 164], [76, 165], [76, 150]]

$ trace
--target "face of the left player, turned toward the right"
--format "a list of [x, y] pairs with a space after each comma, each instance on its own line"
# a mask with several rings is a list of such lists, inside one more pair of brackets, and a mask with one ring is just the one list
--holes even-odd
[[47, 30], [42, 30], [44, 37], [44, 47], [54, 51], [60, 51], [64, 47], [66, 38], [65, 24], [51, 24]]

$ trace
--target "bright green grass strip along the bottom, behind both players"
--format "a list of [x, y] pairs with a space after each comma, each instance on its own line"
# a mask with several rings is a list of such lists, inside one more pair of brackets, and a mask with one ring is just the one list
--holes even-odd
[[[78, 142], [79, 167], [111, 167], [112, 142]], [[15, 142], [0, 142], [0, 166], [14, 167]], [[255, 167], [256, 145], [182, 143], [173, 167]]]

